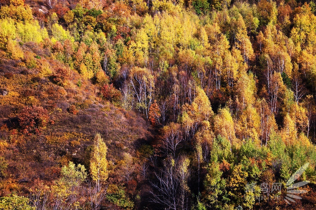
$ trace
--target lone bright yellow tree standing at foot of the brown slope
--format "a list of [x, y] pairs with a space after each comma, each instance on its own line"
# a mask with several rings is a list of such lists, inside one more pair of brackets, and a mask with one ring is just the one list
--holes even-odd
[[101, 138], [100, 133], [97, 133], [94, 137], [93, 149], [90, 159], [90, 173], [92, 179], [96, 181], [99, 191], [101, 182], [106, 181], [108, 177], [106, 152], [106, 144]]

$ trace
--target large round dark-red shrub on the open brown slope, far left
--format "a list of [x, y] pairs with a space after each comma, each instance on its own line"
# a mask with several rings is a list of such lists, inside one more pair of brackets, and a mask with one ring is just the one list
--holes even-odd
[[33, 106], [24, 108], [18, 119], [23, 133], [39, 134], [47, 125], [49, 116], [45, 108]]

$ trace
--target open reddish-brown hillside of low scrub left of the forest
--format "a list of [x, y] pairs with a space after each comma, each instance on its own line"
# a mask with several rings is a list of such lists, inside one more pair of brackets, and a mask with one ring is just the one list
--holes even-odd
[[[47, 49], [36, 43], [21, 48], [37, 56], [33, 58], [37, 67], [28, 68], [25, 62], [8, 57], [0, 62], [1, 194], [28, 195], [34, 183], [49, 186], [59, 178], [61, 166], [69, 161], [88, 166], [96, 133], [106, 137], [107, 160], [113, 170], [109, 180], [119, 184], [123, 179], [119, 164], [124, 154], [136, 156], [151, 141], [146, 120], [102, 100], [98, 86], [77, 72], [70, 71], [67, 85], [57, 85], [53, 67], [61, 64], [52, 60], [50, 53], [45, 54]], [[49, 116], [47, 125], [37, 135], [33, 130], [22, 132], [18, 120], [25, 114], [24, 108], [32, 106], [44, 107]], [[140, 161], [141, 158], [136, 164]]]

